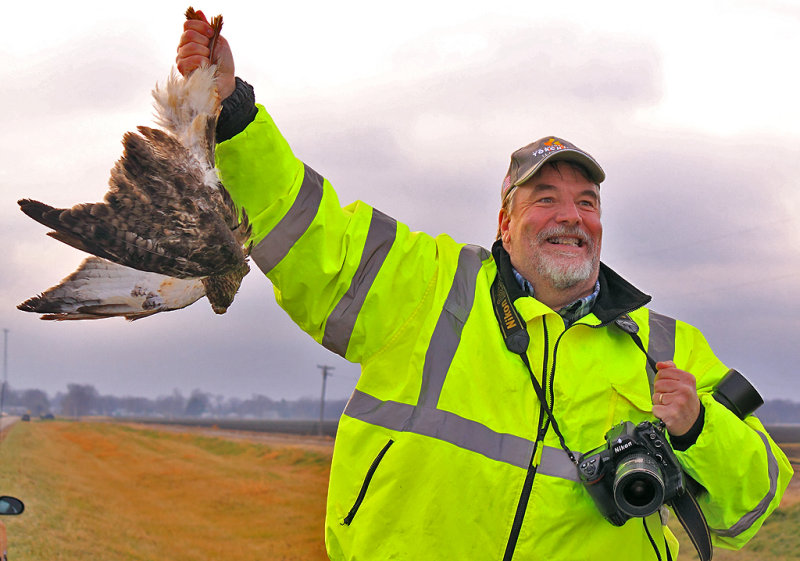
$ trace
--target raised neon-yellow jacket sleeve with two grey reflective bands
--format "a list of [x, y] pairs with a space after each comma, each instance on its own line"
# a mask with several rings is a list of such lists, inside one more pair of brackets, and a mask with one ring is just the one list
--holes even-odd
[[451, 274], [438, 256], [456, 247], [452, 240], [410, 232], [359, 201], [343, 208], [261, 106], [243, 132], [217, 146], [216, 157], [223, 184], [251, 222], [251, 257], [279, 305], [348, 360], [363, 362], [407, 328], [430, 304], [437, 278]]

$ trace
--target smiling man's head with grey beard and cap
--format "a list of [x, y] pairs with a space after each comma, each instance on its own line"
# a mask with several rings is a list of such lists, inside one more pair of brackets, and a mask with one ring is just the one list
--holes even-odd
[[[545, 151], [553, 146], [558, 150]], [[593, 159], [554, 137], [511, 156], [499, 234], [516, 270], [538, 287], [539, 300], [555, 309], [595, 291], [604, 178]]]

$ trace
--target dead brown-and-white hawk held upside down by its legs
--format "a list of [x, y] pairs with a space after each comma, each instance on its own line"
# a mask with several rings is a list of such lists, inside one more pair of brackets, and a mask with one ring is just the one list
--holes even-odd
[[[186, 17], [201, 17], [189, 8]], [[222, 17], [212, 18], [216, 37]], [[205, 295], [224, 313], [249, 271], [250, 226], [214, 167], [220, 99], [216, 66], [187, 77], [174, 70], [153, 90], [156, 122], [122, 139], [103, 202], [53, 208], [32, 199], [22, 211], [48, 235], [97, 257], [19, 309], [42, 319], [128, 319], [178, 309]]]

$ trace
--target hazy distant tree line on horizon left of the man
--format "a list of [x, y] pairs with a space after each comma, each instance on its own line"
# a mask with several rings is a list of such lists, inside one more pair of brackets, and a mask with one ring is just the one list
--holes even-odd
[[[243, 419], [319, 419], [319, 399], [272, 399], [254, 394], [250, 398], [226, 398], [194, 390], [188, 397], [174, 390], [155, 399], [100, 395], [92, 385], [68, 384], [67, 391], [50, 398], [42, 390], [0, 390], [3, 410], [16, 414], [43, 416], [48, 413], [65, 417], [104, 415], [118, 417], [236, 417]], [[325, 401], [325, 419], [338, 419], [346, 399]]]

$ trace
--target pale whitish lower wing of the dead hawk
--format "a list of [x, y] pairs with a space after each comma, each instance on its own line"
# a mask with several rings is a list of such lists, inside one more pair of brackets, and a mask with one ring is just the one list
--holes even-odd
[[201, 279], [177, 279], [88, 257], [56, 286], [17, 308], [49, 320], [134, 320], [185, 308], [204, 295]]

